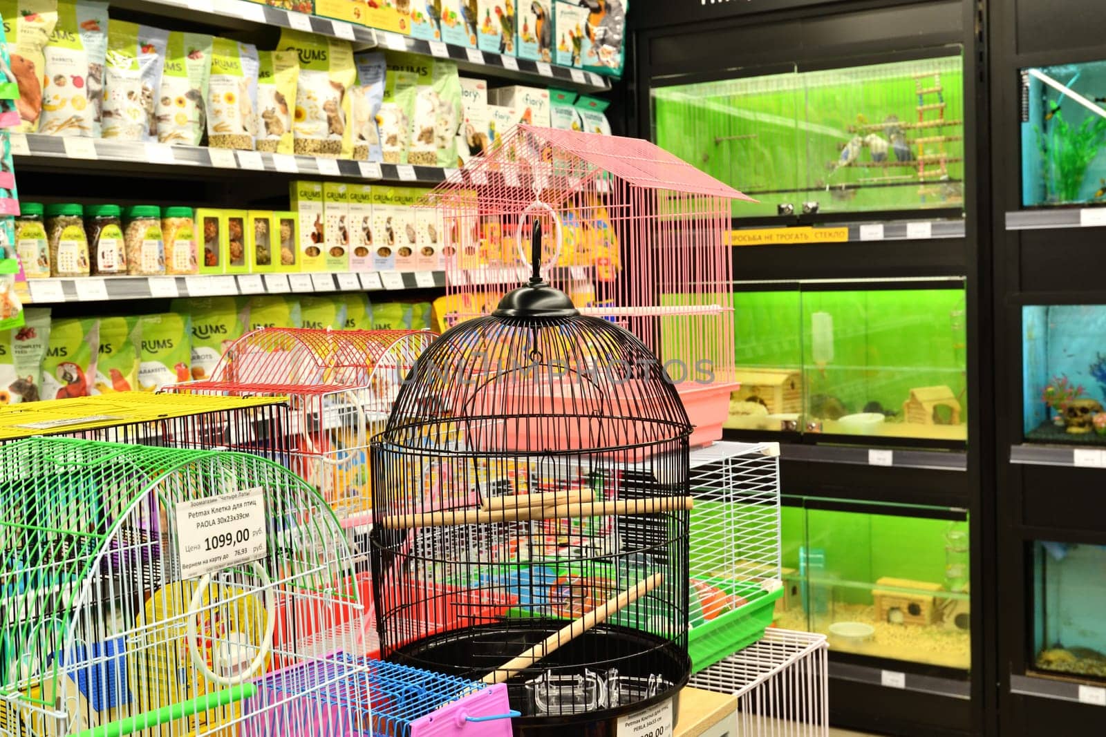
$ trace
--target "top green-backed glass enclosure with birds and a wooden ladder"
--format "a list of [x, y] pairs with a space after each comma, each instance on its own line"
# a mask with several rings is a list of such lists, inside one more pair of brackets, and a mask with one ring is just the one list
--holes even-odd
[[[654, 141], [760, 204], [733, 217], [963, 209], [963, 62], [655, 86]], [[790, 210], [789, 210], [790, 208]]]

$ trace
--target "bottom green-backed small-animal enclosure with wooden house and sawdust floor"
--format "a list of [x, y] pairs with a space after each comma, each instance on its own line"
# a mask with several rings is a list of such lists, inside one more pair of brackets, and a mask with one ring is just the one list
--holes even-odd
[[964, 510], [785, 497], [781, 539], [778, 627], [837, 652], [971, 666]]

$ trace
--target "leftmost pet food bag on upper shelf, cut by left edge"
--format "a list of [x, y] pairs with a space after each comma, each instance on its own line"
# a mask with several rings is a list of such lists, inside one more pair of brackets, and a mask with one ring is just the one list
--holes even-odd
[[8, 63], [19, 85], [20, 124], [13, 130], [35, 133], [42, 115], [43, 53], [58, 23], [56, 0], [0, 0], [8, 46]]

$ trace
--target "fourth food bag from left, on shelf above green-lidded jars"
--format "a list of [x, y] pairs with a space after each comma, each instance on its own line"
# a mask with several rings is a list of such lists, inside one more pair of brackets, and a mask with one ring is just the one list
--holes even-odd
[[174, 146], [199, 146], [207, 133], [208, 82], [212, 39], [171, 31], [157, 96], [157, 139]]

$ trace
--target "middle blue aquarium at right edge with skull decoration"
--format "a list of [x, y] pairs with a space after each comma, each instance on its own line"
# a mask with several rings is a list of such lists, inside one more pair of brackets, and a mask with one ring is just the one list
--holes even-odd
[[1025, 440], [1106, 445], [1106, 305], [1022, 308]]

